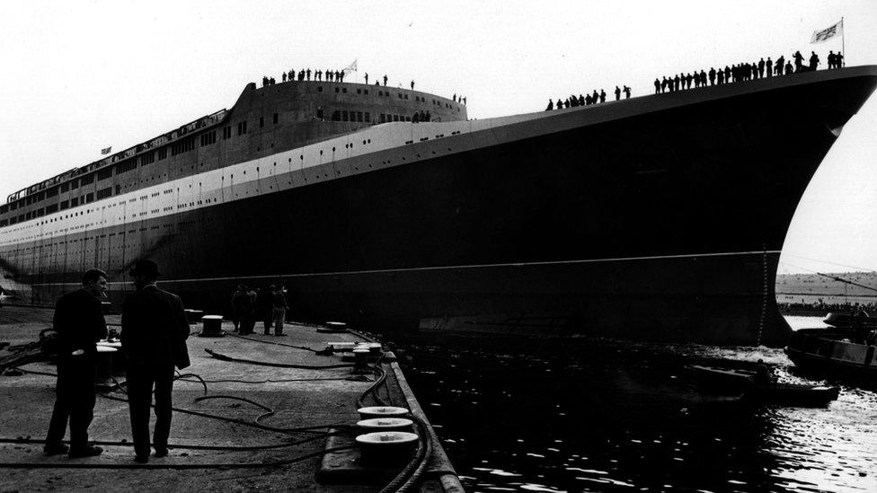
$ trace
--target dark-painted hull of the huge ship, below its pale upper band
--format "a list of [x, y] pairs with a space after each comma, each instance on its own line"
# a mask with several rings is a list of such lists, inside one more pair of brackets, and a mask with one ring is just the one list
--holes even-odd
[[373, 330], [783, 346], [779, 251], [813, 172], [873, 91], [866, 68], [399, 147], [369, 156], [394, 161], [379, 170], [142, 221], [146, 233], [121, 245], [111, 238], [124, 225], [64, 260], [35, 249], [40, 269], [13, 266], [15, 286], [52, 303], [82, 269], [120, 281], [149, 258], [164, 286], [210, 312], [227, 311], [239, 282], [282, 282], [297, 316]]

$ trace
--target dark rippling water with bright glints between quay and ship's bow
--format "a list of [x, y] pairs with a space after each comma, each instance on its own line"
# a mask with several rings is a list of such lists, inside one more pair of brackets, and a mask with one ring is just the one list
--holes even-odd
[[764, 359], [781, 380], [809, 382], [779, 349], [396, 342], [467, 491], [877, 491], [874, 392], [844, 386], [827, 409], [752, 408], [700, 392], [685, 370]]

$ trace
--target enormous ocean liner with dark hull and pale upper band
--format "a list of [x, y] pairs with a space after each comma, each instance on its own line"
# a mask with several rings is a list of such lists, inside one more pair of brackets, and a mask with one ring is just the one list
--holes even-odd
[[492, 119], [385, 86], [249, 84], [10, 195], [0, 287], [52, 304], [97, 267], [118, 305], [150, 259], [212, 313], [282, 283], [295, 318], [371, 330], [784, 345], [785, 233], [875, 84], [848, 67]]

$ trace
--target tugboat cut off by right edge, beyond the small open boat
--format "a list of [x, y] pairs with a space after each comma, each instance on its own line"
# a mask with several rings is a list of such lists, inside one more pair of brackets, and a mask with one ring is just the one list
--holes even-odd
[[867, 313], [828, 313], [825, 329], [793, 333], [785, 354], [804, 371], [877, 383], [877, 318]]

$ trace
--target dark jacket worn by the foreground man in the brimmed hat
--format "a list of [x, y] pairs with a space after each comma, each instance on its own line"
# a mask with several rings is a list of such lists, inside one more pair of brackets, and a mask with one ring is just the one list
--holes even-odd
[[190, 365], [189, 321], [180, 296], [155, 285], [128, 295], [122, 308], [122, 350], [128, 365], [160, 371]]

